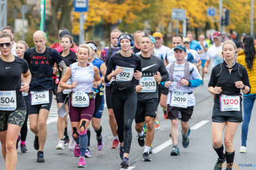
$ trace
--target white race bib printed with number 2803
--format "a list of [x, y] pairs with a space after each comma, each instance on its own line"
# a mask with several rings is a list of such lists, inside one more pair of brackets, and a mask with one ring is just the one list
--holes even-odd
[[155, 92], [156, 80], [154, 77], [143, 77], [139, 79], [139, 84], [144, 85], [141, 92]]

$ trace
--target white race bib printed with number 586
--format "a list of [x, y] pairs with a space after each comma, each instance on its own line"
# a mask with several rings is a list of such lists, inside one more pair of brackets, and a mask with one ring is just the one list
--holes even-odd
[[74, 107], [88, 107], [90, 104], [89, 97], [87, 93], [84, 93], [82, 91], [76, 91], [72, 94], [72, 106]]

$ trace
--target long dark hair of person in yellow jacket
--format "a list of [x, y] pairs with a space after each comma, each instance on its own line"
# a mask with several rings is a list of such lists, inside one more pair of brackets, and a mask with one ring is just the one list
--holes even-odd
[[249, 70], [253, 70], [253, 61], [255, 59], [255, 47], [254, 40], [252, 36], [245, 36], [243, 38], [244, 50], [245, 53], [245, 62]]

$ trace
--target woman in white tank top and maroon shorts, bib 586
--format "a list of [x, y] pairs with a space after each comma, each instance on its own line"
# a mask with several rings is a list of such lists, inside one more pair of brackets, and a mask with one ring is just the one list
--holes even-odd
[[[74, 154], [80, 157], [78, 167], [86, 167], [86, 148], [88, 143], [87, 129], [95, 108], [93, 87], [97, 89], [101, 84], [100, 71], [87, 59], [92, 54], [90, 46], [83, 44], [78, 47], [78, 62], [71, 64], [66, 70], [59, 86], [63, 89], [72, 89], [70, 93], [69, 117], [72, 134], [76, 141]], [[71, 80], [71, 85], [66, 84]], [[95, 79], [95, 81], [94, 81]], [[78, 134], [79, 133], [79, 134]]]

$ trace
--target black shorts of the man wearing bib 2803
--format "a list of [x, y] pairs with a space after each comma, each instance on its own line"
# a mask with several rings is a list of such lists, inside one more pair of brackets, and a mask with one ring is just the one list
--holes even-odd
[[158, 99], [148, 99], [137, 102], [137, 110], [135, 115], [135, 123], [145, 122], [145, 116], [156, 118]]

